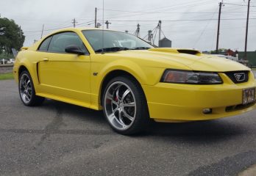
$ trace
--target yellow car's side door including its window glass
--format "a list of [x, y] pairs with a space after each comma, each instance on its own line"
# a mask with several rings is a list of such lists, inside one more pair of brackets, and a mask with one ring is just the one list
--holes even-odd
[[[79, 46], [85, 54], [66, 53], [69, 45]], [[47, 51], [40, 54], [38, 78], [41, 92], [90, 106], [90, 55], [75, 32], [51, 37]]]

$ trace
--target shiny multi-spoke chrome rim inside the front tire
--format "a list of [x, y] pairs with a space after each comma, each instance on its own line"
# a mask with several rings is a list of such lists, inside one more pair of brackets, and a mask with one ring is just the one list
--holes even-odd
[[136, 116], [136, 101], [132, 89], [124, 82], [113, 82], [104, 95], [104, 111], [114, 128], [129, 128]]

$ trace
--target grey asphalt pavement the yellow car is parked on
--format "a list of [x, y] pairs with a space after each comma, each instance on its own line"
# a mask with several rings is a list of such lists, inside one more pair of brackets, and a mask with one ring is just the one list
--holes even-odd
[[46, 100], [26, 107], [0, 81], [0, 175], [236, 175], [256, 163], [256, 111], [113, 132], [102, 111]]

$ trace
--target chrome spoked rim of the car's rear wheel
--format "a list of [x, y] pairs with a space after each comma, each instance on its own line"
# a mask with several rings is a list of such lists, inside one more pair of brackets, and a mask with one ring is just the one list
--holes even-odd
[[23, 74], [20, 80], [20, 95], [24, 103], [29, 103], [32, 98], [32, 84], [28, 75]]

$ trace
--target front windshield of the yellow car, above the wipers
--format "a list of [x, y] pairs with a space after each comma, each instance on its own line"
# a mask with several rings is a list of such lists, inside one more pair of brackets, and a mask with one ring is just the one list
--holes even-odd
[[[104, 39], [102, 37], [103, 32]], [[149, 45], [149, 43], [146, 43], [140, 38], [124, 32], [84, 30], [82, 33], [95, 52], [153, 48], [152, 45]], [[104, 45], [102, 45], [103, 40]]]

